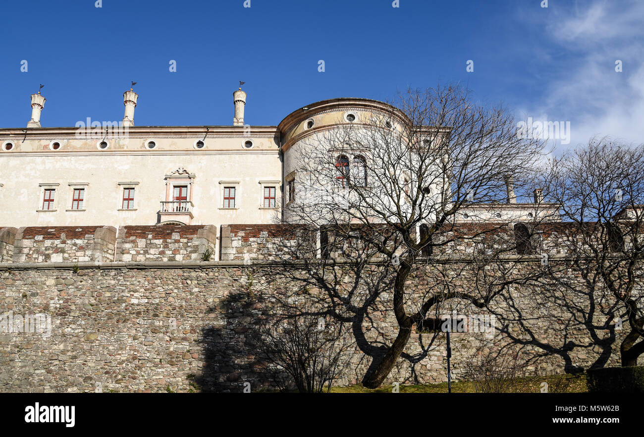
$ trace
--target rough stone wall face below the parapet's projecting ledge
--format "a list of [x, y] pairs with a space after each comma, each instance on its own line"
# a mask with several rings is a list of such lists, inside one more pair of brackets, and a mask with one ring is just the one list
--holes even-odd
[[[99, 383], [103, 391], [120, 392], [238, 392], [244, 382], [253, 391], [269, 387], [272, 376], [253, 338], [277, 301], [301, 294], [292, 280], [276, 274], [276, 269], [296, 267], [223, 264], [81, 265], [77, 273], [69, 265], [3, 266], [0, 313], [5, 318], [12, 314], [14, 321], [30, 314], [50, 315], [52, 327], [50, 336], [0, 334], [0, 391], [95, 391]], [[354, 334], [360, 335], [338, 384], [359, 382], [372, 362], [370, 354], [381, 351], [383, 343], [391, 344], [397, 324], [392, 311], [384, 311], [391, 307], [390, 299], [390, 293], [383, 293], [354, 319], [354, 327], [359, 326]], [[546, 319], [535, 322], [534, 329], [538, 338], [548, 336], [553, 342], [571, 335]], [[583, 329], [574, 335], [583, 336]], [[499, 336], [495, 340], [502, 340]], [[455, 333], [452, 338], [453, 373], [459, 378], [486, 338], [480, 333]], [[573, 351], [571, 359], [575, 365], [588, 365], [597, 353], [593, 348]], [[434, 338], [414, 332], [405, 357], [386, 382], [446, 380], [442, 333]], [[613, 354], [609, 365], [617, 364]], [[552, 358], [539, 366], [542, 372], [562, 373], [564, 361]]]

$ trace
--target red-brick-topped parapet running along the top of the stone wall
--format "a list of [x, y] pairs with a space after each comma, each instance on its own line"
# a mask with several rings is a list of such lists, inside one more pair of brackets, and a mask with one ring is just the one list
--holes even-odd
[[[560, 225], [541, 228], [531, 238], [536, 251], [565, 253]], [[486, 236], [462, 238], [477, 232]], [[332, 233], [326, 234], [331, 241]], [[118, 230], [111, 226], [0, 228], [0, 262], [184, 261], [201, 260], [205, 251], [210, 251], [211, 260], [283, 261], [321, 257], [325, 244], [321, 237], [303, 226], [279, 224], [222, 225], [220, 244], [214, 225], [120, 226]], [[439, 238], [451, 241], [436, 246], [434, 255], [475, 253], [499, 245], [511, 249], [515, 244], [511, 226], [500, 224], [460, 224]], [[332, 251], [330, 256], [343, 257], [357, 250], [350, 242], [343, 247], [345, 251]]]

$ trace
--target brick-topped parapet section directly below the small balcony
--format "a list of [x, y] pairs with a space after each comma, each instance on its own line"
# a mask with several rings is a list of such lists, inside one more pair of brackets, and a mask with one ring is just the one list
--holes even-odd
[[121, 226], [116, 261], [201, 260], [206, 251], [214, 261], [217, 228], [212, 225]]

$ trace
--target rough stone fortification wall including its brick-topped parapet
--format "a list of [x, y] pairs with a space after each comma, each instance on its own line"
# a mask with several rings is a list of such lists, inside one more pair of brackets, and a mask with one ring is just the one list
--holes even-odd
[[[299, 302], [303, 296], [325, 299], [325, 291], [300, 280], [310, 274], [305, 264], [270, 259], [279, 229], [271, 233], [263, 225], [222, 226], [221, 261], [201, 260], [205, 249], [216, 248], [214, 226], [122, 227], [118, 233], [104, 226], [77, 229], [0, 230], [0, 391], [95, 391], [99, 383], [103, 391], [120, 392], [241, 392], [245, 382], [253, 391], [274, 389], [270, 366], [256, 344], [260, 325], [280, 302]], [[231, 248], [234, 252], [226, 251]], [[115, 250], [117, 258], [130, 255], [132, 260], [106, 260]], [[536, 255], [515, 258], [519, 270], [540, 268]], [[464, 271], [453, 260], [445, 266]], [[343, 266], [332, 268], [334, 286], [342, 289], [352, 283]], [[422, 275], [410, 281], [410, 289], [431, 285]], [[454, 287], [468, 284], [471, 278], [453, 279]], [[526, 315], [537, 315], [529, 326], [535, 338], [554, 345], [592, 344], [583, 324], [569, 320], [556, 302], [531, 302], [529, 289], [521, 293], [528, 298], [521, 303]], [[336, 384], [359, 382], [374, 354], [395, 338], [391, 299], [391, 291], [384, 289], [363, 314], [346, 322], [354, 342], [348, 367]], [[507, 302], [495, 305], [499, 330], [493, 343], [482, 333], [453, 333], [455, 379], [462, 377], [480, 347], [491, 351], [508, 344], [510, 336], [524, 340], [526, 327], [511, 316], [504, 319]], [[46, 335], [6, 329], [35, 315], [50, 318]], [[619, 364], [620, 339], [617, 332], [605, 365]], [[529, 344], [524, 351], [535, 354]], [[555, 354], [532, 369], [563, 373], [564, 366], [591, 365], [601, 353], [605, 351], [594, 345], [575, 348], [566, 352], [565, 360]], [[444, 335], [414, 331], [386, 383], [445, 380]]]

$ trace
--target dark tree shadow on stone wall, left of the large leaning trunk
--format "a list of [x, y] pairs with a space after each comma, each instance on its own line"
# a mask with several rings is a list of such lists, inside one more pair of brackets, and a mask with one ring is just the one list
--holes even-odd
[[[373, 266], [245, 267], [224, 290], [225, 298], [209, 307], [211, 322], [202, 329], [202, 373], [195, 382], [204, 393], [243, 393], [292, 389], [289, 376], [270, 362], [262, 334], [268, 325], [293, 316], [341, 323], [350, 333], [352, 349], [343, 374], [334, 385], [356, 384], [377, 367], [388, 351], [383, 298], [392, 286], [390, 275]], [[368, 271], [363, 271], [363, 269]], [[227, 292], [227, 293], [226, 293]], [[384, 322], [384, 323], [383, 323]], [[395, 324], [395, 321], [393, 321]], [[408, 375], [401, 384], [419, 384], [416, 366], [434, 345], [434, 335], [418, 335], [415, 353], [403, 353], [396, 370]]]

